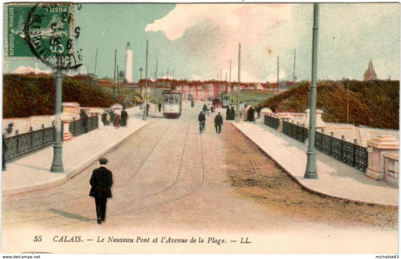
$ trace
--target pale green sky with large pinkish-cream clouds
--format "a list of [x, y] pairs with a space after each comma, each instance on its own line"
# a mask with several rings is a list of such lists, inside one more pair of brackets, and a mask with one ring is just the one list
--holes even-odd
[[[238, 81], [310, 80], [313, 4], [82, 4], [74, 8], [74, 27], [82, 49], [79, 72], [113, 78], [114, 52], [125, 70], [127, 42], [133, 50], [133, 81], [146, 72], [154, 79], [174, 69], [174, 78]], [[107, 14], [107, 15], [105, 15]], [[379, 79], [400, 78], [399, 3], [322, 3], [319, 13], [318, 79], [363, 80], [372, 59]], [[4, 60], [4, 73], [20, 66], [49, 69], [38, 60]]]

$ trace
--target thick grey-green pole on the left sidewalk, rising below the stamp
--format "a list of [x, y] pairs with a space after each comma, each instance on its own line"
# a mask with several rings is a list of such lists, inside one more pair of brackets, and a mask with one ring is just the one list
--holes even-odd
[[53, 142], [53, 162], [50, 171], [55, 173], [64, 172], [63, 168], [63, 136], [61, 131], [61, 97], [63, 93], [63, 74], [61, 73], [61, 60], [57, 59], [56, 78], [56, 109], [55, 109], [55, 140]]

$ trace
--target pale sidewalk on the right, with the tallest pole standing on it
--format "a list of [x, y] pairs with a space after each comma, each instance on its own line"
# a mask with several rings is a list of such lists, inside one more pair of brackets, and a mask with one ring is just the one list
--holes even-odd
[[232, 122], [300, 185], [312, 192], [357, 202], [398, 206], [399, 191], [384, 181], [318, 151], [318, 179], [305, 179], [307, 144], [279, 133], [262, 123]]

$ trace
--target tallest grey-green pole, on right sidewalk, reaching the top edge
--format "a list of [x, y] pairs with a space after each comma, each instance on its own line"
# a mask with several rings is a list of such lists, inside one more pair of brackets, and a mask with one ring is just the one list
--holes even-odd
[[319, 4], [314, 4], [313, 8], [313, 38], [312, 38], [312, 82], [310, 85], [310, 113], [309, 113], [309, 134], [306, 170], [304, 178], [317, 179], [317, 151], [315, 148], [316, 133], [316, 75], [318, 63], [318, 37], [319, 37]]

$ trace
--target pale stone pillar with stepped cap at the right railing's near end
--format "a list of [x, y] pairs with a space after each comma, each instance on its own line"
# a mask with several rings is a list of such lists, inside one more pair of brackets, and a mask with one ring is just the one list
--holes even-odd
[[385, 153], [399, 153], [399, 143], [393, 136], [378, 135], [367, 141], [368, 168], [366, 176], [375, 180], [384, 180]]

